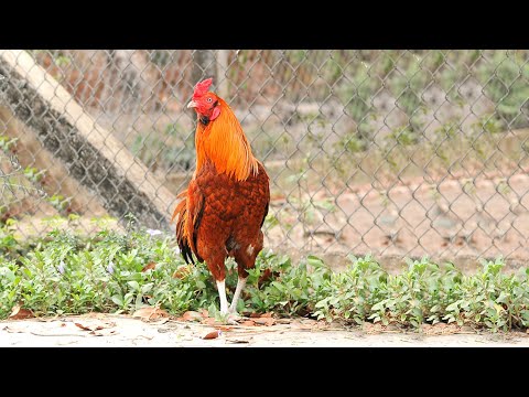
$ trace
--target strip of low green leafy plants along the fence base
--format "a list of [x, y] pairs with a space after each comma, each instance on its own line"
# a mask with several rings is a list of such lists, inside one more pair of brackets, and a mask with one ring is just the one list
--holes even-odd
[[[54, 230], [45, 238], [20, 243], [4, 226], [0, 255], [0, 319], [17, 304], [36, 315], [131, 313], [144, 305], [160, 305], [177, 315], [218, 308], [206, 267], [186, 266], [170, 236], [132, 229], [93, 236]], [[467, 276], [451, 264], [439, 266], [423, 258], [408, 260], [406, 271], [390, 275], [369, 256], [344, 257], [344, 261], [346, 270], [333, 272], [315, 256], [293, 264], [287, 256], [263, 250], [238, 309], [413, 329], [438, 322], [495, 332], [528, 328], [527, 268], [507, 275], [501, 271], [504, 261], [497, 259], [484, 261], [477, 273]], [[144, 270], [149, 264], [154, 266]], [[267, 269], [273, 277], [262, 280]], [[233, 261], [228, 270], [231, 299], [237, 282]]]

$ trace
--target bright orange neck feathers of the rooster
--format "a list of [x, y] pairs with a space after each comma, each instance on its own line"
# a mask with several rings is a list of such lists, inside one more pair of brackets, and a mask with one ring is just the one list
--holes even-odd
[[218, 101], [219, 116], [207, 122], [199, 120], [196, 127], [196, 172], [210, 161], [217, 172], [245, 181], [250, 174], [257, 174], [258, 160], [229, 105], [220, 98]]

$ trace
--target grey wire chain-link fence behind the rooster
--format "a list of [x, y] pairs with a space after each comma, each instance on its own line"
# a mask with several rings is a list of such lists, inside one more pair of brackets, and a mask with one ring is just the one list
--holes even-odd
[[[43, 233], [57, 214], [89, 232], [107, 211], [147, 212], [142, 197], [161, 195], [156, 181], [174, 196], [185, 189], [195, 161], [195, 114], [185, 105], [194, 84], [214, 76], [214, 90], [234, 108], [271, 178], [269, 247], [529, 258], [529, 51], [23, 54], [35, 65], [22, 65], [20, 54], [10, 64], [0, 58], [0, 146], [17, 155], [18, 178], [47, 194], [36, 200], [4, 189], [1, 217], [17, 218], [23, 235]], [[33, 76], [36, 65], [45, 77]], [[44, 81], [58, 82], [71, 99], [46, 105], [65, 96]], [[71, 101], [91, 121], [74, 117]], [[50, 110], [63, 105], [67, 117]], [[123, 169], [128, 160], [120, 160], [122, 172], [111, 179], [115, 164], [85, 155], [87, 143], [72, 138], [76, 128], [87, 142], [104, 136], [101, 151], [115, 150], [107, 160], [130, 151], [144, 168]], [[64, 161], [67, 146], [75, 161]], [[91, 174], [83, 169], [100, 162]], [[13, 181], [10, 167], [3, 172]], [[152, 175], [123, 187], [116, 181], [130, 170]], [[161, 204], [149, 226], [174, 227], [165, 222], [175, 203]]]

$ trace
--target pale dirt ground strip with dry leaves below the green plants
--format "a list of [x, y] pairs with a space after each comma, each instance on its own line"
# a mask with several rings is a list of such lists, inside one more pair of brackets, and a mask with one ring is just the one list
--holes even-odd
[[[522, 332], [493, 334], [456, 325], [404, 332], [381, 325], [345, 328], [309, 319], [262, 325], [209, 325], [162, 318], [147, 322], [116, 314], [0, 321], [0, 347], [528, 347]], [[220, 331], [220, 333], [218, 333]], [[206, 335], [215, 336], [205, 339]]]

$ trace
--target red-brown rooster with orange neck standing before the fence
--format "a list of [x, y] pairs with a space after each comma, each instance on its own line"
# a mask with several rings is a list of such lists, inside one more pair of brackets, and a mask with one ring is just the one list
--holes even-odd
[[[237, 302], [247, 269], [262, 249], [261, 232], [270, 202], [269, 176], [257, 160], [231, 108], [209, 92], [213, 79], [195, 85], [187, 108], [197, 115], [196, 170], [174, 210], [176, 242], [184, 260], [205, 261], [216, 281], [220, 313], [237, 318]], [[225, 260], [237, 262], [238, 280], [231, 304], [226, 299]]]

